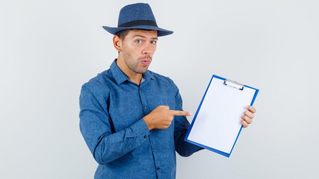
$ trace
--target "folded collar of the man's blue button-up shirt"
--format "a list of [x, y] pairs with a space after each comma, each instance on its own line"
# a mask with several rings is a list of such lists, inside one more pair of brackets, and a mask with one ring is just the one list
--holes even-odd
[[[125, 80], [129, 80], [129, 78], [126, 76], [125, 73], [122, 72], [122, 70], [117, 66], [116, 60], [114, 59], [112, 64], [110, 65], [110, 70], [112, 72], [112, 75], [116, 81], [117, 84], [121, 84]], [[153, 74], [147, 70], [145, 73], [143, 73], [142, 78], [146, 80], [146, 78], [154, 79]]]

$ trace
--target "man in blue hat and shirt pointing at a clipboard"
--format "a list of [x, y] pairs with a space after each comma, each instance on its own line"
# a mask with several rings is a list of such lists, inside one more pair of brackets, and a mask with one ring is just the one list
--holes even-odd
[[[157, 26], [146, 3], [124, 6], [112, 33], [118, 58], [82, 86], [80, 131], [99, 163], [94, 178], [175, 178], [176, 156], [203, 148], [183, 141], [189, 122], [173, 80], [147, 70], [158, 37], [173, 31]], [[241, 124], [252, 122], [248, 107]]]

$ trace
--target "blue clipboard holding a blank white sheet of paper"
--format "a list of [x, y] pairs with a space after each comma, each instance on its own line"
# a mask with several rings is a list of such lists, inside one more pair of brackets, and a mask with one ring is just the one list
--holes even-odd
[[245, 106], [253, 105], [258, 92], [213, 74], [184, 141], [229, 157], [243, 127]]

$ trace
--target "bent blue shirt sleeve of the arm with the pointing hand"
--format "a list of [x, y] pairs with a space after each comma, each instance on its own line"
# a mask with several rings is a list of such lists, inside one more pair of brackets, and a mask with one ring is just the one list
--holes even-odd
[[148, 141], [150, 131], [143, 118], [132, 126], [112, 134], [108, 111], [103, 109], [85, 85], [81, 88], [79, 101], [80, 131], [99, 164], [118, 159]]

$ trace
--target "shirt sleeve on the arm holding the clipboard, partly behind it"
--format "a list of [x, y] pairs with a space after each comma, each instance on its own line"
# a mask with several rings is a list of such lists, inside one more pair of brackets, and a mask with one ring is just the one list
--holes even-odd
[[[175, 110], [183, 111], [182, 105], [182, 97], [179, 93], [178, 87], [175, 85], [174, 81], [171, 79], [172, 85], [174, 87], [175, 94]], [[174, 142], [175, 142], [175, 150], [176, 152], [183, 156], [187, 157], [192, 155], [193, 153], [202, 150], [204, 148], [184, 141], [185, 135], [189, 129], [190, 123], [187, 120], [186, 116], [175, 116], [174, 122]]]

